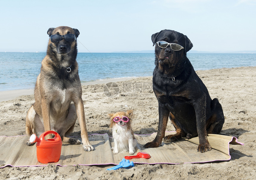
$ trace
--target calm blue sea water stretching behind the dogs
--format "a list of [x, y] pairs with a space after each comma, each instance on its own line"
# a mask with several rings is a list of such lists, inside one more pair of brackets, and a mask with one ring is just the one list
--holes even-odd
[[[33, 89], [45, 55], [0, 52], [0, 91]], [[256, 66], [256, 54], [188, 53], [187, 57], [195, 70]], [[81, 82], [152, 76], [154, 59], [154, 53], [77, 54]]]

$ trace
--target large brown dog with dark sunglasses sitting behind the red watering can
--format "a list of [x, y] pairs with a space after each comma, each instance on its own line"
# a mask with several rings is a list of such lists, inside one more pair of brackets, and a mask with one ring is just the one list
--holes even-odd
[[[80, 144], [67, 136], [73, 132], [78, 118], [85, 151], [93, 150], [86, 129], [82, 87], [78, 75], [77, 29], [67, 26], [49, 28], [50, 36], [46, 57], [35, 85], [35, 103], [26, 116], [26, 134], [40, 136], [53, 130], [63, 142]], [[51, 134], [46, 138], [51, 138]], [[34, 144], [34, 143], [33, 143]], [[27, 145], [33, 145], [29, 141]]]

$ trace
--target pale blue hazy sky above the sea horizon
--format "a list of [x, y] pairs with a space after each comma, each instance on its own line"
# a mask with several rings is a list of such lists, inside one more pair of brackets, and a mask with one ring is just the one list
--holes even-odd
[[0, 52], [46, 51], [50, 27], [79, 30], [78, 52], [154, 50], [171, 29], [196, 51], [255, 51], [256, 0], [1, 1]]

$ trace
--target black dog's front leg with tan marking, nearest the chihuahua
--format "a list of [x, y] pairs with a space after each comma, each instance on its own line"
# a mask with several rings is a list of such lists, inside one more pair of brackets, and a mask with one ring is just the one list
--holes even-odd
[[158, 103], [158, 111], [159, 111], [159, 123], [158, 123], [157, 135], [152, 142], [146, 143], [143, 146], [144, 148], [159, 147], [159, 145], [162, 143], [162, 140], [165, 136], [165, 130], [166, 130], [170, 111], [161, 102]]

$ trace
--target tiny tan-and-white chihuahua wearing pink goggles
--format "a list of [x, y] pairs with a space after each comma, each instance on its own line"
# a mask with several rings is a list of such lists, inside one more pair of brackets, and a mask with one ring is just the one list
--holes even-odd
[[108, 114], [110, 117], [110, 130], [114, 138], [113, 153], [127, 152], [129, 154], [135, 153], [137, 140], [135, 139], [132, 128], [131, 120], [133, 118], [133, 111], [117, 112], [115, 114]]

